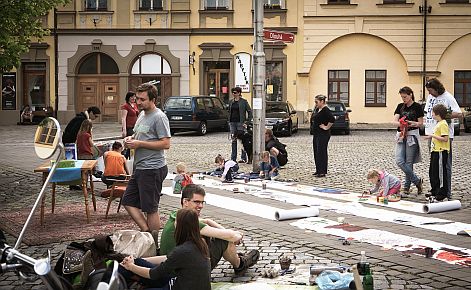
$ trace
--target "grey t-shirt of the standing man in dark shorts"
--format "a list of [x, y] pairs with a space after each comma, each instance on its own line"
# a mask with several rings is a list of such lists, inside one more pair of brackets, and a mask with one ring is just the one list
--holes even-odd
[[[134, 138], [141, 141], [155, 141], [171, 137], [168, 118], [159, 108], [148, 114], [142, 111], [134, 125], [134, 132]], [[135, 169], [159, 169], [166, 164], [164, 150], [136, 149]]]

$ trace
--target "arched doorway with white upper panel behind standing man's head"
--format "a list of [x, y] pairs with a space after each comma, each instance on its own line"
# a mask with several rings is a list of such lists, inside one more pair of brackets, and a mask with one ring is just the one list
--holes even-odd
[[172, 95], [171, 74], [172, 68], [169, 62], [160, 54], [140, 55], [131, 67], [129, 89], [135, 90], [140, 84], [153, 81], [158, 91], [155, 104], [162, 108], [167, 98]]

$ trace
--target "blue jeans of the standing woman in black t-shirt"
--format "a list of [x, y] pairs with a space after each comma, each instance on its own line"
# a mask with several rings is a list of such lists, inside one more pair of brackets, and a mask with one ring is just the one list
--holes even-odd
[[411, 183], [417, 185], [420, 182], [420, 178], [414, 173], [414, 159], [419, 154], [419, 142], [415, 139], [412, 146], [409, 146], [406, 140], [396, 144], [396, 164], [406, 175], [404, 189], [410, 189]]

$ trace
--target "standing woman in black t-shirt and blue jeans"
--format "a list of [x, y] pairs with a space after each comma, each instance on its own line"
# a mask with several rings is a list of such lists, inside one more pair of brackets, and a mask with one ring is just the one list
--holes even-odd
[[417, 194], [422, 193], [423, 179], [414, 173], [414, 163], [420, 162], [419, 127], [424, 121], [424, 110], [414, 101], [414, 92], [409, 87], [399, 90], [402, 103], [394, 111], [393, 123], [397, 125], [396, 164], [405, 174], [403, 193], [410, 193], [411, 184], [417, 187]]

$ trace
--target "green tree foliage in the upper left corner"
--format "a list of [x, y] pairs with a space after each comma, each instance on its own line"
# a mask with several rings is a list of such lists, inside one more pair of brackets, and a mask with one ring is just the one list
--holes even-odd
[[27, 52], [31, 38], [49, 34], [40, 17], [69, 0], [0, 0], [0, 72], [10, 71]]

